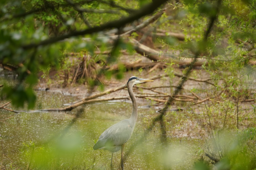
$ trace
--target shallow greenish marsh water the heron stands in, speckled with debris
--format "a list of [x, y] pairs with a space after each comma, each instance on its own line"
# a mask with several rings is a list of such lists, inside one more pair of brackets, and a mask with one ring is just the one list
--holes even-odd
[[[36, 93], [35, 110], [61, 108], [64, 103], [81, 98], [52, 91]], [[168, 137], [166, 144], [162, 145], [158, 127], [143, 136], [150, 117], [157, 113], [141, 103], [138, 106], [136, 127], [125, 146], [125, 169], [190, 169], [197, 153], [196, 141]], [[130, 117], [132, 104], [123, 100], [87, 104], [82, 108], [82, 116], [73, 124], [70, 122], [78, 109], [71, 112], [19, 113], [1, 109], [0, 156], [3, 164], [22, 162], [24, 166], [21, 167], [31, 164], [30, 168], [33, 168], [41, 161], [41, 164], [50, 162], [50, 169], [110, 169], [111, 153], [93, 150], [92, 147], [106, 128]], [[49, 146], [49, 143], [52, 144]], [[120, 151], [114, 153], [114, 169], [120, 169], [120, 158]], [[47, 169], [46, 165], [40, 167]]]

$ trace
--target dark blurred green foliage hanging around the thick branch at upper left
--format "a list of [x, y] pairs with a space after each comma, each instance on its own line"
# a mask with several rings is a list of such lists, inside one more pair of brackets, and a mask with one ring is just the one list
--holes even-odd
[[[58, 69], [62, 62], [60, 59], [63, 58], [62, 51], [81, 48], [92, 53], [94, 51], [93, 42], [53, 44], [56, 42], [54, 36], [96, 27], [127, 16], [129, 8], [122, 7], [124, 3], [121, 1], [116, 3], [1, 1], [0, 63], [4, 68], [12, 67], [15, 74], [18, 74], [17, 85], [4, 84], [1, 89], [2, 99], [10, 99], [17, 107], [23, 107], [27, 102], [28, 108], [33, 108], [36, 96], [31, 89], [38, 82], [37, 74], [40, 70], [45, 71], [49, 67]], [[125, 3], [133, 7], [136, 4], [133, 1]], [[95, 39], [95, 36], [92, 35], [92, 38]], [[40, 43], [42, 45], [38, 45]]]

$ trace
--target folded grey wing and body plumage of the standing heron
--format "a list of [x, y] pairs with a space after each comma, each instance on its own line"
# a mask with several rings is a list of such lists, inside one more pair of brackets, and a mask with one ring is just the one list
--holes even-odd
[[108, 148], [120, 146], [127, 142], [132, 135], [132, 131], [133, 127], [129, 120], [122, 120], [106, 129], [100, 135], [93, 149], [106, 149], [111, 151], [111, 149]]

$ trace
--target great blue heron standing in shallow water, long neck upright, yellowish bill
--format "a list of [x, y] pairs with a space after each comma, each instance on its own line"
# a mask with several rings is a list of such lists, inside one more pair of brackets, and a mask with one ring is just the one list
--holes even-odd
[[121, 149], [121, 168], [124, 169], [123, 164], [123, 151], [125, 143], [130, 139], [136, 120], [137, 120], [137, 102], [136, 98], [132, 91], [132, 86], [134, 84], [143, 83], [143, 82], [151, 82], [153, 80], [149, 79], [140, 79], [138, 77], [131, 77], [127, 82], [127, 88], [129, 96], [132, 100], [132, 115], [129, 119], [124, 119], [106, 129], [99, 137], [98, 141], [93, 146], [93, 149], [105, 149], [112, 152], [111, 156], [111, 169], [112, 167], [112, 159], [113, 152], [117, 152]]

